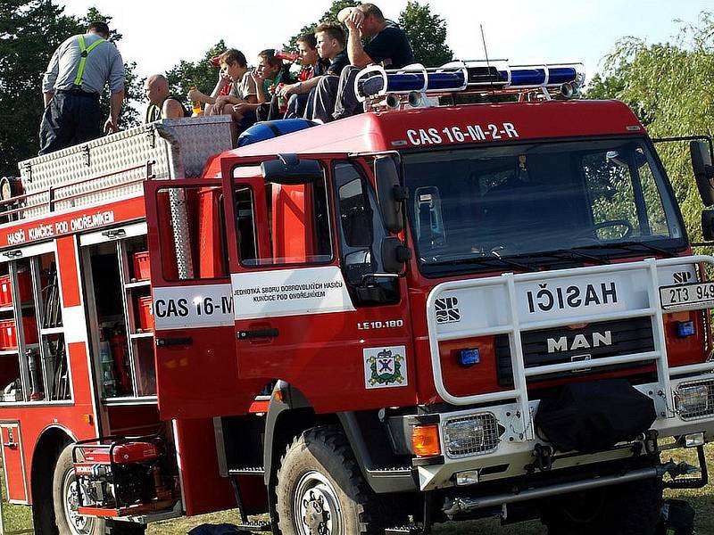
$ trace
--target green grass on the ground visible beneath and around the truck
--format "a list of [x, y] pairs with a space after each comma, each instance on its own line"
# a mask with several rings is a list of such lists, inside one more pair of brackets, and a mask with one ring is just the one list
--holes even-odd
[[[705, 449], [707, 465], [714, 470], [714, 444]], [[697, 465], [696, 453], [692, 450], [677, 450], [676, 461], [686, 461]], [[668, 460], [668, 455], [663, 454], [662, 460]], [[714, 478], [714, 474], [712, 474]], [[696, 490], [668, 490], [667, 498], [679, 498], [689, 501], [697, 512], [696, 526], [699, 533], [714, 533], [714, 484], [710, 483], [703, 489]], [[29, 529], [32, 527], [32, 518], [29, 507], [4, 505], [4, 521], [6, 531]], [[237, 523], [237, 510], [223, 511], [220, 513], [202, 514], [200, 516], [179, 518], [149, 525], [148, 535], [174, 535], [186, 533], [191, 528], [202, 523]], [[447, 523], [437, 525], [435, 535], [545, 535], [546, 530], [539, 522], [521, 523], [514, 526], [501, 526], [498, 519], [485, 519], [466, 523]]]

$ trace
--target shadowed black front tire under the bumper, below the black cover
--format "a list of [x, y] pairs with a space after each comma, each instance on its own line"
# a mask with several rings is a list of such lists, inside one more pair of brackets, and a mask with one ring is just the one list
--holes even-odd
[[662, 509], [658, 479], [552, 498], [542, 522], [548, 535], [655, 535]]

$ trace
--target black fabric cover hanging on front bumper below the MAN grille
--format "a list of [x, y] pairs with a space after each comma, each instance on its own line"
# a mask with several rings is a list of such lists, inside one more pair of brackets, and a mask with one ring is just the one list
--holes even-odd
[[646, 432], [657, 413], [652, 399], [624, 379], [567, 384], [541, 399], [535, 426], [559, 451], [594, 453]]

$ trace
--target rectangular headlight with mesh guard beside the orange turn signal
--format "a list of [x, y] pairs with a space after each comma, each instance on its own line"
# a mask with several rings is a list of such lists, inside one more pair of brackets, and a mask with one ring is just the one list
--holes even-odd
[[491, 413], [453, 418], [444, 424], [444, 442], [449, 457], [493, 451], [499, 440], [496, 417]]

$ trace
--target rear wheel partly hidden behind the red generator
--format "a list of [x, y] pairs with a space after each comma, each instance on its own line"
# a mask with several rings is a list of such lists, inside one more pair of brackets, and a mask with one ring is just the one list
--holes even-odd
[[[76, 484], [74, 483], [74, 467], [72, 465], [73, 444], [68, 444], [57, 464], [54, 465], [52, 480], [52, 497], [54, 518], [60, 535], [142, 535], [146, 531], [144, 524], [128, 522], [111, 522], [104, 518], [79, 516], [76, 514]], [[73, 496], [70, 496], [74, 493]], [[71, 512], [74, 505], [75, 513]]]

